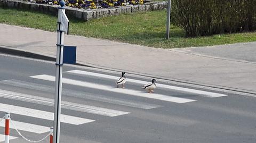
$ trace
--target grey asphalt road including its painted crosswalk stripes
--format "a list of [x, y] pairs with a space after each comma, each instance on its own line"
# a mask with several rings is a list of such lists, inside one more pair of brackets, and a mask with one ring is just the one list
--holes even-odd
[[[0, 54], [0, 65], [0, 117], [10, 110], [23, 136], [45, 137], [53, 126], [54, 62]], [[125, 88], [117, 89], [120, 74], [63, 66], [62, 143], [256, 141], [255, 97], [206, 89], [196, 89], [198, 94], [161, 80], [154, 94], [148, 94], [141, 86], [151, 78], [133, 74], [126, 74]], [[4, 127], [0, 127], [0, 141], [1, 134]], [[14, 129], [10, 136], [17, 137], [10, 142], [28, 142]]]

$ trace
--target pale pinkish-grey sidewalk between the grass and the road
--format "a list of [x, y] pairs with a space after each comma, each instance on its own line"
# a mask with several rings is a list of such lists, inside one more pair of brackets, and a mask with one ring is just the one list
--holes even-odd
[[[57, 32], [0, 24], [0, 33], [0, 47], [55, 57]], [[169, 50], [65, 35], [64, 44], [77, 46], [79, 64], [256, 94], [256, 43]]]

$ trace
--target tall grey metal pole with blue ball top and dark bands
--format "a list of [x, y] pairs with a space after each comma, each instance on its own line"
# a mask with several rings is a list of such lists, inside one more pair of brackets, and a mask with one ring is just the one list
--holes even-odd
[[[61, 4], [61, 3], [60, 3]], [[65, 3], [64, 3], [65, 5]], [[53, 142], [60, 142], [60, 115], [61, 115], [61, 90], [62, 90], [62, 65], [63, 65], [63, 41], [64, 30], [61, 24], [62, 14], [65, 13], [63, 3], [59, 7], [58, 24], [57, 24], [57, 54], [56, 54], [56, 76], [55, 76], [55, 100], [54, 100], [54, 128], [53, 128]]]

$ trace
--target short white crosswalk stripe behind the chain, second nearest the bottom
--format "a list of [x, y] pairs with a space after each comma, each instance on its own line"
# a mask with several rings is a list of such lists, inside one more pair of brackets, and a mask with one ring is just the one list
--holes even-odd
[[[22, 130], [22, 131], [35, 132], [35, 133], [45, 133], [50, 131], [50, 127], [44, 127], [42, 125], [23, 123], [23, 122], [13, 121], [13, 120], [12, 122], [18, 130]], [[0, 122], [0, 127], [5, 127], [4, 120]], [[15, 129], [11, 123], [10, 123], [10, 128]]]

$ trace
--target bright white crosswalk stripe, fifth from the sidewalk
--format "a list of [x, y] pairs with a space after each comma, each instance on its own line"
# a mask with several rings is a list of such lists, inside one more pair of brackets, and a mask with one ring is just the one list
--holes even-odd
[[[31, 108], [25, 108], [25, 107], [2, 104], [2, 103], [0, 103], [0, 111], [10, 112], [11, 114], [13, 113], [13, 114], [19, 114], [19, 115], [24, 115], [24, 116], [36, 117], [39, 119], [52, 120], [52, 121], [53, 121], [53, 115], [54, 115], [52, 112], [34, 110]], [[94, 120], [90, 120], [90, 119], [84, 119], [81, 117], [75, 117], [75, 116], [69, 116], [69, 115], [63, 115], [63, 114], [61, 114], [60, 117], [61, 117], [60, 118], [61, 122], [69, 123], [69, 124], [76, 124], [76, 125], [94, 121]]]

